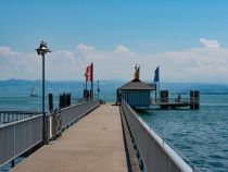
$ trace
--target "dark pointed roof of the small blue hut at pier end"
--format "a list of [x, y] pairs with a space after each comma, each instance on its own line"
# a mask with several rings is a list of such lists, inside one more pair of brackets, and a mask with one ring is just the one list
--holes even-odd
[[138, 78], [135, 78], [118, 88], [119, 90], [155, 90], [154, 86], [145, 84]]

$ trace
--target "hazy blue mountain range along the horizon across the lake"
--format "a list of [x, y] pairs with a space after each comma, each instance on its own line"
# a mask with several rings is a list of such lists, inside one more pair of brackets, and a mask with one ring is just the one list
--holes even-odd
[[[115, 95], [116, 88], [127, 82], [124, 81], [100, 81], [101, 94]], [[97, 82], [93, 84], [97, 90]], [[167, 89], [169, 93], [188, 94], [189, 90], [200, 90], [201, 94], [228, 94], [228, 84], [202, 84], [202, 83], [161, 83], [161, 89]], [[0, 95], [24, 95], [29, 94], [31, 87], [35, 91], [41, 95], [41, 81], [24, 81], [24, 79], [8, 79], [0, 81]], [[46, 91], [53, 94], [72, 93], [77, 97], [81, 97], [85, 82], [83, 81], [47, 81]], [[90, 88], [90, 83], [88, 83]]]

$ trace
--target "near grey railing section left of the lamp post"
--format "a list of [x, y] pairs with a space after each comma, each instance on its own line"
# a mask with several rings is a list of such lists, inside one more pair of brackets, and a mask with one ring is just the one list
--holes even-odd
[[0, 165], [42, 142], [42, 114], [0, 126]]

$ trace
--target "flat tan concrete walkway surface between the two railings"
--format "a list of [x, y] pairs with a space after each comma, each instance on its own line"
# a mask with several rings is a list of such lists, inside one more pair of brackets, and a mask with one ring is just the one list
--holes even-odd
[[11, 171], [127, 171], [118, 107], [100, 106]]

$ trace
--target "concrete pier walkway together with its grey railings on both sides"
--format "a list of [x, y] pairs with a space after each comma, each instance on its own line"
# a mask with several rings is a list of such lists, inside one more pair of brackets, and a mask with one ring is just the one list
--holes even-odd
[[198, 171], [125, 100], [121, 106], [91, 100], [63, 108], [46, 116], [45, 130], [41, 114], [0, 126], [0, 164], [11, 162], [13, 172]]

